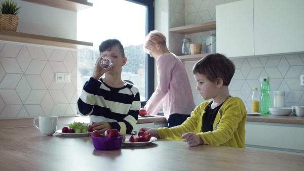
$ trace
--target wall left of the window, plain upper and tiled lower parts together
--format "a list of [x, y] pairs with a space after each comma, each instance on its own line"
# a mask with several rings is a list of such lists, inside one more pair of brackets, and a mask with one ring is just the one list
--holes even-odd
[[[77, 12], [13, 1], [17, 32], [77, 38]], [[71, 82], [55, 82], [56, 72]], [[76, 104], [77, 50], [0, 40], [0, 119], [75, 115]]]

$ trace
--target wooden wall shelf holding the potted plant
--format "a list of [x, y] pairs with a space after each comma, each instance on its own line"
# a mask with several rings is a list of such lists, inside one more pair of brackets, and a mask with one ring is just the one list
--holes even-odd
[[69, 49], [83, 49], [93, 46], [92, 42], [77, 41], [65, 38], [49, 37], [44, 35], [28, 34], [7, 30], [0, 30], [0, 40]]

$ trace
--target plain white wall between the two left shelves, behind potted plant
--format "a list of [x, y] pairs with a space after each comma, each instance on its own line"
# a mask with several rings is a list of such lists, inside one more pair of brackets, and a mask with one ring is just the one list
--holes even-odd
[[[3, 2], [4, 0], [0, 0]], [[20, 8], [17, 32], [77, 39], [77, 12], [14, 0]]]

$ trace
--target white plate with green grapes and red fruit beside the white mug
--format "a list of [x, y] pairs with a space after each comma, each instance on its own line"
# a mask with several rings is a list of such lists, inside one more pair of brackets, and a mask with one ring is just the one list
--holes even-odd
[[87, 123], [74, 122], [64, 126], [62, 130], [57, 130], [56, 133], [67, 137], [82, 137], [92, 134], [91, 126]]

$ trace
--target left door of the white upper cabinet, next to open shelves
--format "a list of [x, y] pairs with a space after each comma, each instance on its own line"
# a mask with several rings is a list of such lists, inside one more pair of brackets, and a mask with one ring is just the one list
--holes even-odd
[[254, 55], [253, 0], [216, 6], [216, 52], [227, 57]]

